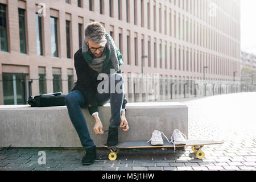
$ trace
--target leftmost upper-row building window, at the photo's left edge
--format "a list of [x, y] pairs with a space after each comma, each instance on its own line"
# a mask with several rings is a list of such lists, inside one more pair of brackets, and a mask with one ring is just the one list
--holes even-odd
[[6, 5], [0, 4], [0, 48], [8, 52]]

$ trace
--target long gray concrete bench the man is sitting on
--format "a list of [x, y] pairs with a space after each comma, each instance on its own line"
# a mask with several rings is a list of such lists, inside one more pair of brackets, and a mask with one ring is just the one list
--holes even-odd
[[[174, 129], [188, 136], [188, 107], [179, 102], [127, 103], [126, 119], [130, 130], [119, 128], [119, 141], [149, 140], [154, 130], [171, 139]], [[109, 128], [110, 103], [99, 107], [105, 130]], [[90, 137], [97, 147], [106, 143], [108, 134], [95, 135], [94, 118], [85, 115]], [[66, 106], [31, 107], [30, 105], [0, 106], [0, 147], [82, 147]]]

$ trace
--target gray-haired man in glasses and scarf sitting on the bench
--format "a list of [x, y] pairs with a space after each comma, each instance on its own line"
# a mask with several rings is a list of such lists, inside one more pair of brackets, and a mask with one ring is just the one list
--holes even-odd
[[[126, 103], [123, 93], [123, 77], [120, 66], [123, 64], [122, 55], [115, 47], [114, 41], [100, 23], [89, 23], [85, 28], [85, 40], [74, 56], [77, 82], [75, 87], [65, 97], [69, 118], [79, 135], [85, 155], [82, 164], [89, 165], [96, 159], [96, 146], [90, 138], [86, 120], [81, 107], [87, 107], [95, 119], [94, 133], [104, 134], [101, 119], [98, 116], [98, 106], [110, 101], [111, 115], [107, 145], [114, 147], [118, 144], [118, 126], [128, 131], [129, 126], [125, 117]], [[114, 72], [113, 72], [114, 71]], [[113, 74], [112, 74], [113, 73]], [[103, 74], [103, 75], [102, 75]], [[107, 76], [104, 85], [98, 77]], [[121, 82], [121, 85], [119, 84]], [[102, 84], [102, 83], [101, 83]], [[119, 92], [116, 86], [119, 86]], [[114, 86], [114, 92], [112, 89]], [[102, 93], [102, 89], [107, 92]]]

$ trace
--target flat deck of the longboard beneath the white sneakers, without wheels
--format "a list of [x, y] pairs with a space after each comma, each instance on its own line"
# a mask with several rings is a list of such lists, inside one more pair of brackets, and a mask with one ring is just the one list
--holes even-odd
[[[174, 147], [173, 143], [169, 143], [167, 140], [163, 140], [164, 144], [159, 146], [152, 146], [150, 142], [147, 143], [148, 140], [134, 140], [134, 141], [125, 141], [119, 142], [115, 147], [108, 147], [106, 144], [103, 147], [107, 148], [168, 148]], [[185, 145], [175, 145], [175, 147], [189, 147], [189, 146], [205, 146], [211, 144], [222, 144], [224, 142], [218, 141], [209, 141], [209, 140], [186, 140], [187, 144]]]

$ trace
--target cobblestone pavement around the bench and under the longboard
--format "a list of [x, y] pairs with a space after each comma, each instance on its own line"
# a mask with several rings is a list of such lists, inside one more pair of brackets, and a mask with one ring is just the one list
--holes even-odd
[[[237, 93], [184, 101], [188, 106], [188, 139], [223, 140], [204, 146], [204, 159], [186, 150], [121, 150], [115, 161], [109, 151], [98, 148], [98, 159], [82, 166], [83, 151], [47, 148], [0, 150], [0, 170], [254, 170], [256, 169], [256, 93]], [[171, 138], [170, 131], [168, 138]], [[38, 164], [39, 151], [46, 152], [46, 164]]]

